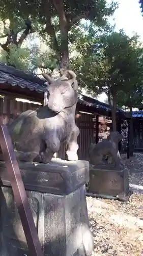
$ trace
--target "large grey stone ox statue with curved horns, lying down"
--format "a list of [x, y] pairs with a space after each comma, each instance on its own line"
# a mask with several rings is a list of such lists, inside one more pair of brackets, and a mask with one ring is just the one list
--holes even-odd
[[49, 85], [48, 98], [44, 106], [21, 113], [8, 129], [12, 137], [17, 159], [25, 162], [48, 163], [58, 152], [62, 142], [67, 143], [68, 160], [78, 160], [77, 136], [75, 125], [77, 103], [77, 80], [72, 71], [67, 77], [53, 80], [43, 74]]

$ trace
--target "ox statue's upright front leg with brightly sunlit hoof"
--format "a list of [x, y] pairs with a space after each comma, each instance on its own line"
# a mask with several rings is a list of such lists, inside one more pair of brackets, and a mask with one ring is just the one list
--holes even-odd
[[77, 144], [77, 137], [79, 135], [79, 128], [75, 125], [74, 129], [72, 131], [71, 137], [67, 143], [67, 157], [69, 161], [76, 161], [78, 160], [77, 156], [77, 150], [78, 150], [78, 144]]

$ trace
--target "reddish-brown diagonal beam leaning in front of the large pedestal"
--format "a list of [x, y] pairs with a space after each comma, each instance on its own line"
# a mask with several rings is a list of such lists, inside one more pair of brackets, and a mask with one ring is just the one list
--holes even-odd
[[44, 256], [13, 150], [12, 140], [6, 125], [0, 125], [0, 145], [30, 255]]

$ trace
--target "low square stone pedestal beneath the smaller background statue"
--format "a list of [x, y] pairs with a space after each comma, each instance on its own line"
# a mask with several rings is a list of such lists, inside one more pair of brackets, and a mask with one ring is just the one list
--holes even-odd
[[89, 194], [97, 197], [128, 201], [129, 173], [128, 169], [90, 167]]

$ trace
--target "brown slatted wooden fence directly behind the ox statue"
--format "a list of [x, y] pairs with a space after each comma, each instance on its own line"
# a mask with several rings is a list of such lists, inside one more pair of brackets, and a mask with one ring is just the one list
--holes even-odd
[[[14, 120], [21, 112], [26, 110], [35, 110], [39, 107], [39, 104], [27, 103], [22, 101], [16, 101], [7, 97], [0, 98], [0, 122], [1, 124], [7, 124], [9, 121]], [[88, 160], [89, 147], [91, 143], [95, 143], [94, 137], [94, 115], [88, 113], [78, 113], [76, 124], [80, 129], [78, 136], [78, 159]], [[61, 146], [58, 153], [59, 158], [65, 158], [65, 145]]]

